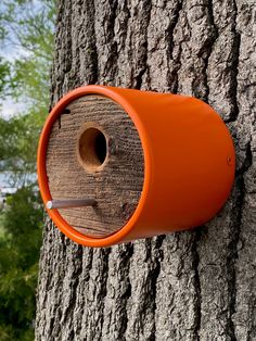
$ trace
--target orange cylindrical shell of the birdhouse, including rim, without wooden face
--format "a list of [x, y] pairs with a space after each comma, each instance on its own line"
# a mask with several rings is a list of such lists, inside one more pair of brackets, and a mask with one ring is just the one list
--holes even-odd
[[52, 125], [68, 103], [92, 93], [118, 103], [133, 122], [144, 153], [143, 190], [128, 223], [111, 236], [85, 236], [52, 210], [48, 213], [55, 225], [78, 243], [108, 247], [189, 229], [214, 217], [230, 193], [235, 163], [232, 139], [218, 114], [192, 97], [104, 86], [75, 89], [50, 113], [38, 148], [43, 202], [51, 200], [46, 155]]

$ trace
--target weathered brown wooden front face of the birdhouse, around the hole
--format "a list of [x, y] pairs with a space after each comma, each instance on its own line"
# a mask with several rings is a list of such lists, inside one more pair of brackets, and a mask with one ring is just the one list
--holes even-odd
[[[72, 227], [85, 235], [111, 235], [127, 223], [141, 195], [144, 161], [138, 131], [128, 114], [104, 97], [81, 97], [69, 103], [66, 112], [54, 123], [48, 143], [51, 195], [95, 199], [95, 206], [59, 211]], [[88, 124], [104, 134], [107, 146], [104, 163], [91, 172], [78, 157], [79, 137]]]

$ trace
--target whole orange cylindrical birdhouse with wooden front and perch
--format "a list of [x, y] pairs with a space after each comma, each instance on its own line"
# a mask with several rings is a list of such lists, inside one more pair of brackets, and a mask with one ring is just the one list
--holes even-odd
[[104, 86], [64, 96], [38, 147], [48, 213], [88, 247], [206, 223], [229, 197], [234, 164], [230, 134], [206, 103]]

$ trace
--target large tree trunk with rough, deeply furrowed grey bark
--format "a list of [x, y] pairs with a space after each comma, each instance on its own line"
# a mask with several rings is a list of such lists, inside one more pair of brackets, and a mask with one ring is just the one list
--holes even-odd
[[52, 104], [86, 84], [192, 94], [226, 121], [232, 194], [194, 231], [92, 250], [46, 223], [37, 340], [256, 340], [254, 0], [60, 0]]

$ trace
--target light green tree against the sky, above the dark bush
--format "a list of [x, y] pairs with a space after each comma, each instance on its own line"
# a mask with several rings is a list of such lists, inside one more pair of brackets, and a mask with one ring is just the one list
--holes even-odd
[[2, 110], [0, 172], [18, 173], [18, 180], [36, 171], [38, 134], [49, 108], [54, 15], [54, 0], [0, 5], [0, 96], [20, 105], [14, 117]]

